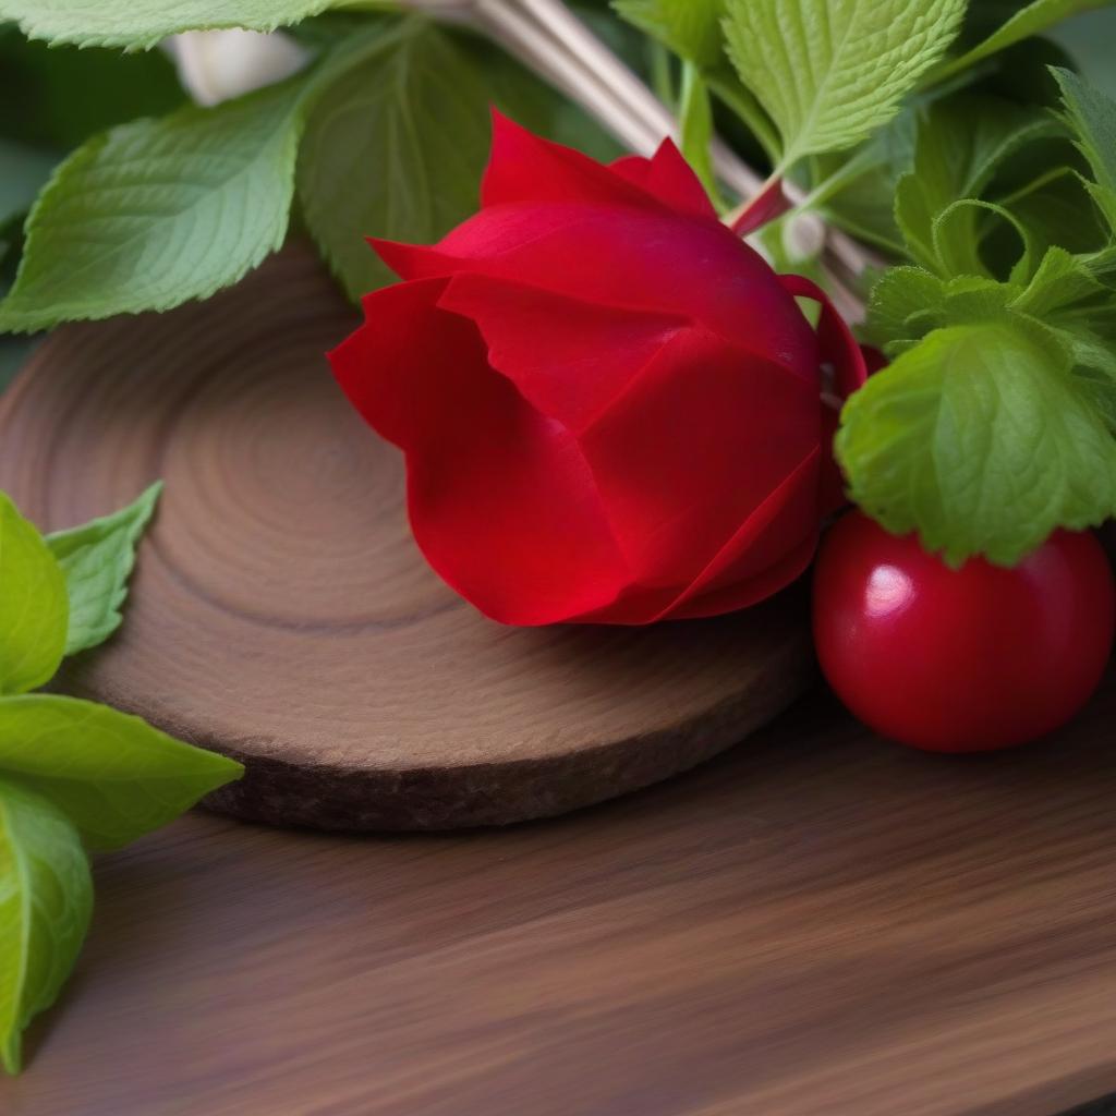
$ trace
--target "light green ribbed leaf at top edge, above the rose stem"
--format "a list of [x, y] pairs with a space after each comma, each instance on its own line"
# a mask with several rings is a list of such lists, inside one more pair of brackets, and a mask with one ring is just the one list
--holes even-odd
[[964, 0], [728, 0], [729, 55], [782, 135], [785, 170], [886, 124], [961, 27]]

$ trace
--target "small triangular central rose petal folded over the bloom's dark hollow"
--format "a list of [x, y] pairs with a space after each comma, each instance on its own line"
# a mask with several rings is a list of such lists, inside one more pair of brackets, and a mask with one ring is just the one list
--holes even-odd
[[616, 310], [489, 276], [454, 276], [439, 300], [471, 318], [502, 372], [575, 434], [637, 376], [684, 318]]

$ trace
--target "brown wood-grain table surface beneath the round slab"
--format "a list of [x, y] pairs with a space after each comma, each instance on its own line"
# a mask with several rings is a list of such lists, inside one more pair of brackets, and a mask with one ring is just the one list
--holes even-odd
[[561, 820], [97, 865], [6, 1116], [1051, 1116], [1116, 1089], [1116, 677], [924, 756], [816, 693]]

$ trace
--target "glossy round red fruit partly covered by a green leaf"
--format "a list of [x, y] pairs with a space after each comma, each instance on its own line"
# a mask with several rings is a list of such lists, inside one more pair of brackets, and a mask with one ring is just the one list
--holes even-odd
[[814, 575], [821, 670], [865, 724], [941, 752], [1026, 743], [1088, 700], [1113, 646], [1112, 568], [1090, 533], [1057, 531], [1014, 569], [960, 570], [860, 512]]

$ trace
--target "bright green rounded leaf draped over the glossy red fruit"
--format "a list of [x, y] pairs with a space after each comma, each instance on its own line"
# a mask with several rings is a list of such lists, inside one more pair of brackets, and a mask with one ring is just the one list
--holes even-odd
[[1116, 441], [1048, 330], [1004, 315], [930, 334], [845, 405], [850, 496], [951, 565], [1013, 565], [1116, 511]]

